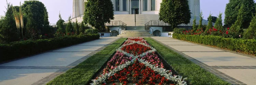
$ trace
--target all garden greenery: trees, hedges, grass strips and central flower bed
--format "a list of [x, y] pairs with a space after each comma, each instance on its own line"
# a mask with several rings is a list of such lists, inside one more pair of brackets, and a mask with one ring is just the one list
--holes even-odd
[[[216, 20], [210, 14], [209, 23], [202, 24], [201, 12], [199, 24], [194, 18], [192, 28], [177, 28], [179, 24], [189, 23], [191, 18], [187, 0], [163, 1], [159, 20], [175, 28], [173, 38], [256, 55], [256, 10], [253, 0], [230, 0], [226, 6], [224, 24], [222, 13]], [[5, 16], [0, 19], [0, 62], [100, 40], [98, 32], [109, 31], [104, 24], [114, 19], [113, 10], [104, 11], [113, 9], [113, 4], [109, 8], [101, 6], [111, 4], [111, 0], [88, 0], [83, 22], [72, 22], [71, 16], [67, 21], [62, 20], [59, 13], [55, 26], [49, 24], [47, 9], [40, 1], [24, 1], [20, 6], [7, 3]], [[172, 12], [167, 11], [168, 8]], [[47, 85], [71, 84], [230, 85], [230, 82], [151, 37], [120, 37], [47, 82]]]

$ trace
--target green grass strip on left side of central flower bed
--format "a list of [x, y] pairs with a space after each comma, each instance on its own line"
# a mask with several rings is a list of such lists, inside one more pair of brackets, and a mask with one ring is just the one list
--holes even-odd
[[108, 61], [112, 54], [120, 47], [127, 38], [121, 38], [113, 44], [105, 47], [93, 56], [87, 58], [84, 62], [69, 69], [65, 73], [59, 75], [47, 85], [85, 85], [90, 82], [93, 75], [100, 70], [105, 62]]

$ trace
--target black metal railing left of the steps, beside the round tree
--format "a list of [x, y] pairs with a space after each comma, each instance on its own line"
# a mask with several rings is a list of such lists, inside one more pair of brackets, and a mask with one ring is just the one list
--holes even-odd
[[127, 24], [122, 21], [110, 21], [110, 23], [105, 23], [105, 26], [119, 26], [118, 35], [126, 30]]

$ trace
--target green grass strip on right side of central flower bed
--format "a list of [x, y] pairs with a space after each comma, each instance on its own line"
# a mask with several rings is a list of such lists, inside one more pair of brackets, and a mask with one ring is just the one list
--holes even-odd
[[183, 77], [187, 77], [187, 81], [190, 85], [230, 85], [228, 82], [218, 78], [216, 75], [201, 68], [154, 39], [145, 38], [145, 40], [157, 50], [162, 58], [171, 65], [177, 73]]

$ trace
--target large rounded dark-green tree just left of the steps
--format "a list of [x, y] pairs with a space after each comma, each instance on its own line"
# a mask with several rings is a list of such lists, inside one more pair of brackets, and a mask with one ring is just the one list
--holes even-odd
[[111, 0], [88, 0], [85, 5], [83, 21], [104, 32], [105, 23], [114, 19], [114, 7]]

